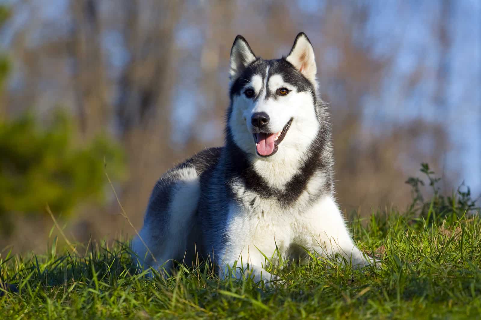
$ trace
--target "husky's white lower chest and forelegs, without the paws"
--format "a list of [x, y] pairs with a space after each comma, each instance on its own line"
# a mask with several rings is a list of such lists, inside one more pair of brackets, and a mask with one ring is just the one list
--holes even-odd
[[302, 258], [292, 256], [292, 248], [305, 248], [325, 256], [340, 252], [345, 257], [357, 250], [330, 196], [308, 208], [283, 208], [278, 201], [259, 197], [252, 206], [248, 205], [250, 208], [245, 203], [229, 205], [228, 243], [222, 255], [225, 263], [242, 261], [243, 264], [263, 265], [264, 255], [277, 261], [278, 254], [283, 259]]

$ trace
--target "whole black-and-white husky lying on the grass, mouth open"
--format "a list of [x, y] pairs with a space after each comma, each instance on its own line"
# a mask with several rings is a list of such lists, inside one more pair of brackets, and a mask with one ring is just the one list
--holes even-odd
[[210, 259], [221, 277], [268, 282], [266, 257], [375, 263], [355, 246], [335, 201], [329, 112], [307, 36], [273, 60], [237, 36], [229, 86], [224, 146], [158, 180], [132, 243], [138, 265], [168, 271], [172, 261]]

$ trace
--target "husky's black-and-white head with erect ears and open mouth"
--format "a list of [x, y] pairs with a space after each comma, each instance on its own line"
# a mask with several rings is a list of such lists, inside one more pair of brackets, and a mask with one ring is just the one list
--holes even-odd
[[230, 51], [228, 134], [247, 154], [265, 160], [302, 156], [319, 130], [316, 62], [304, 33], [287, 57], [255, 57], [242, 36]]

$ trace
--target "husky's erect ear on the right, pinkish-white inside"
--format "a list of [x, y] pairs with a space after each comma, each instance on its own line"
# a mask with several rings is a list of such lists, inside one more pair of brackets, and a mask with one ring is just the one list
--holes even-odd
[[286, 60], [308, 80], [311, 82], [316, 81], [317, 67], [316, 59], [314, 58], [314, 49], [304, 32], [296, 36], [294, 45], [292, 45], [291, 52], [289, 52]]

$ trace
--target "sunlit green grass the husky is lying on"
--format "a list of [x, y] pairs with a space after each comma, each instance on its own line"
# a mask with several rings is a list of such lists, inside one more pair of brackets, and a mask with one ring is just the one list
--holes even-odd
[[[387, 218], [386, 218], [387, 216]], [[432, 221], [432, 220], [430, 220]], [[440, 226], [442, 225], [442, 226]], [[2, 319], [480, 319], [481, 218], [428, 224], [396, 212], [351, 224], [379, 270], [322, 261], [278, 272], [285, 284], [221, 281], [207, 266], [153, 280], [134, 274], [128, 247], [84, 257], [3, 254]], [[384, 252], [383, 252], [384, 251]]]

